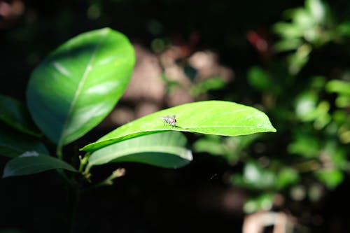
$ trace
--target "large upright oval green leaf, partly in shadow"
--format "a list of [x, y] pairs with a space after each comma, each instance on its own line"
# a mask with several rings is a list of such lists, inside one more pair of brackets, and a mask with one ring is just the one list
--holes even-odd
[[59, 145], [83, 136], [113, 109], [129, 83], [134, 50], [109, 28], [80, 34], [31, 74], [27, 104], [36, 125]]

